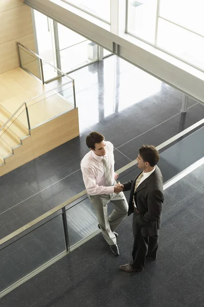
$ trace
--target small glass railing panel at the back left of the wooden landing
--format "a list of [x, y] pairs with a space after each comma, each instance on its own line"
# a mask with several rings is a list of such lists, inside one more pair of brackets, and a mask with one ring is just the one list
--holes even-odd
[[42, 80], [39, 58], [34, 54], [31, 54], [29, 51], [25, 51], [21, 46], [19, 46], [19, 55], [21, 67]]

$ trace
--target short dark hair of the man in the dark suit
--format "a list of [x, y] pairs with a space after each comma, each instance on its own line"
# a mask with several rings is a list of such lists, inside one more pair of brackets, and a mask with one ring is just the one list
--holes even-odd
[[142, 145], [139, 149], [139, 154], [143, 162], [148, 162], [151, 167], [154, 167], [159, 162], [159, 152], [155, 146]]

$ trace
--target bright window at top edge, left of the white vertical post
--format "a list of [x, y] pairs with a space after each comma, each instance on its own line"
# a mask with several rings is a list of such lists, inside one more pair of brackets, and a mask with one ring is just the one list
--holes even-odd
[[107, 23], [111, 22], [111, 0], [66, 0], [65, 2], [79, 7], [83, 11]]

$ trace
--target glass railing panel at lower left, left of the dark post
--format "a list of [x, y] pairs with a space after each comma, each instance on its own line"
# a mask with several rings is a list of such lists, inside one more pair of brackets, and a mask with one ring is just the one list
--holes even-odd
[[39, 227], [36, 224], [35, 227], [32, 232], [5, 248], [2, 246], [0, 292], [66, 251], [61, 213]]

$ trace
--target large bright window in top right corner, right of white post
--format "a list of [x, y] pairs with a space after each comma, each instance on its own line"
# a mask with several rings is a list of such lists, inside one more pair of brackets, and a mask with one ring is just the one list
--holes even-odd
[[127, 0], [126, 32], [204, 70], [203, 0]]

